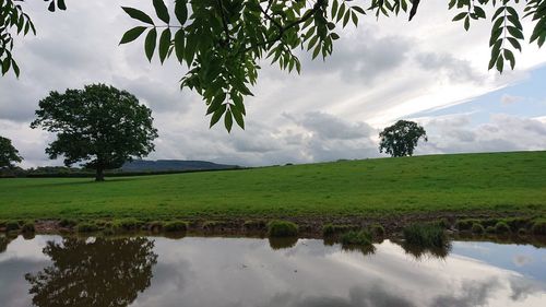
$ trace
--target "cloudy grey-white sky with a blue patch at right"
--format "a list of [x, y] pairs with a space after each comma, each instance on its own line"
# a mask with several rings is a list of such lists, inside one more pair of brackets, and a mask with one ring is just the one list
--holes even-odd
[[[23, 167], [62, 164], [45, 154], [55, 135], [29, 128], [38, 102], [91, 83], [127, 90], [152, 108], [159, 138], [151, 160], [261, 166], [379, 157], [379, 132], [399, 119], [426, 129], [418, 155], [546, 150], [546, 48], [525, 44], [515, 70], [488, 71], [490, 22], [465, 32], [448, 1], [423, 1], [412, 22], [363, 16], [358, 27], [337, 29], [325, 61], [301, 52], [299, 75], [262, 61], [246, 130], [232, 133], [209, 128], [201, 97], [179, 88], [186, 68], [175, 59], [150, 63], [143, 37], [118, 46], [138, 25], [120, 7], [151, 13], [152, 1], [67, 2], [56, 13], [43, 1], [24, 4], [38, 34], [17, 38], [21, 76], [0, 78], [0, 135]], [[532, 24], [523, 25], [530, 37]]]

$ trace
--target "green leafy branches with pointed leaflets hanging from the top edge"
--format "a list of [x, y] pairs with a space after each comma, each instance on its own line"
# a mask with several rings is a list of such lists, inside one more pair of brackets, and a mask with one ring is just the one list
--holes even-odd
[[[56, 5], [66, 9], [63, 0], [46, 1], [50, 11], [55, 11]], [[174, 54], [188, 67], [180, 86], [195, 90], [209, 106], [211, 126], [224, 117], [228, 131], [234, 120], [245, 127], [244, 98], [252, 95], [250, 87], [257, 82], [261, 59], [271, 59], [281, 69], [295, 69], [299, 73], [301, 64], [295, 50], [305, 48], [312, 52], [313, 59], [325, 58], [333, 52], [334, 40], [340, 38], [335, 32], [340, 26], [348, 23], [356, 26], [367, 12], [378, 19], [408, 13], [412, 20], [420, 3], [420, 0], [371, 0], [369, 7], [363, 9], [368, 1], [173, 0], [174, 10], [169, 12], [164, 0], [152, 1], [158, 23], [138, 9], [122, 8], [142, 24], [129, 29], [120, 44], [146, 33], [144, 54], [149, 60], [156, 49], [162, 63]], [[35, 32], [15, 2], [20, 1], [0, 0], [2, 73], [11, 67], [19, 74], [11, 54], [10, 31]], [[518, 5], [521, 2], [524, 3]], [[514, 51], [521, 51], [524, 42], [522, 15], [534, 23], [529, 42], [542, 47], [546, 40], [546, 0], [448, 0], [448, 7], [458, 10], [453, 21], [462, 22], [465, 31], [471, 22], [485, 20], [486, 10], [494, 12], [489, 69], [502, 72], [506, 61], [514, 68]]]

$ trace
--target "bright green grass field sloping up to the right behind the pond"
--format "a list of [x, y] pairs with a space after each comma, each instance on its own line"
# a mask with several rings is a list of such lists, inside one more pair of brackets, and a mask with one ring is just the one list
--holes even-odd
[[546, 152], [110, 178], [0, 179], [0, 220], [546, 213]]

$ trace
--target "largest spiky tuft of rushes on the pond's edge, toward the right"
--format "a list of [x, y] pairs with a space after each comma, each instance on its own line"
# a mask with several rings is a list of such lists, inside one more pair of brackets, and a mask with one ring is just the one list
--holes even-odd
[[424, 248], [442, 248], [448, 245], [443, 228], [437, 224], [412, 224], [404, 228], [407, 244]]

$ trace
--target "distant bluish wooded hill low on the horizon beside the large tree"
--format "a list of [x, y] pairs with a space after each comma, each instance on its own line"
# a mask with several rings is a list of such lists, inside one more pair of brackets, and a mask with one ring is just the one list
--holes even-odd
[[238, 165], [216, 164], [207, 161], [182, 160], [135, 160], [121, 166], [122, 172], [169, 172], [169, 170], [202, 170], [202, 169], [230, 169], [239, 168]]

